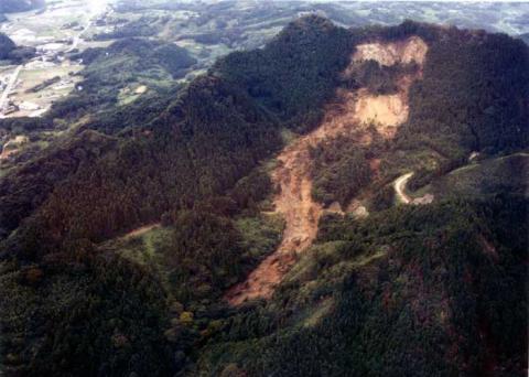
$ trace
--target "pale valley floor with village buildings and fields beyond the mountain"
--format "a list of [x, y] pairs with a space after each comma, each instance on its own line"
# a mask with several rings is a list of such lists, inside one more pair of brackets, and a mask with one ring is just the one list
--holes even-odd
[[[73, 9], [86, 8], [85, 12]], [[97, 46], [87, 35], [105, 32], [104, 19], [111, 13], [105, 2], [86, 4], [65, 0], [51, 3], [45, 11], [14, 14], [0, 24], [0, 32], [18, 45], [35, 49], [35, 56], [18, 66], [0, 66], [0, 119], [11, 117], [40, 117], [56, 100], [73, 90], [82, 77], [83, 62], [72, 58], [76, 52]], [[80, 14], [73, 18], [72, 14]], [[20, 22], [23, 17], [24, 22]]]

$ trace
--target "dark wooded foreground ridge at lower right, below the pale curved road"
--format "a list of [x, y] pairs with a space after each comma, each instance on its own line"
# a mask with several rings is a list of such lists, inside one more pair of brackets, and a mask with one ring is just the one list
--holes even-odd
[[522, 376], [527, 201], [326, 218], [274, 299], [234, 316], [205, 375]]

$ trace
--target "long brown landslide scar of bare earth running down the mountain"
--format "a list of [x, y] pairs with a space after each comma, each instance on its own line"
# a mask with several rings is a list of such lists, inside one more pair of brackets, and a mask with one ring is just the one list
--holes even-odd
[[[428, 51], [424, 42], [415, 36], [395, 43], [369, 43], [357, 46], [352, 56], [352, 67], [367, 60], [390, 66], [417, 63], [422, 66]], [[344, 72], [352, 72], [349, 67]], [[359, 143], [370, 143], [367, 125], [375, 122], [377, 131], [391, 139], [398, 126], [408, 119], [408, 89], [415, 75], [399, 80], [399, 93], [373, 95], [367, 89], [337, 90], [336, 101], [328, 105], [322, 123], [312, 132], [299, 138], [278, 155], [279, 164], [271, 177], [279, 193], [274, 197], [276, 212], [285, 220], [283, 238], [278, 249], [268, 256], [247, 278], [226, 293], [231, 305], [251, 299], [268, 299], [276, 286], [290, 270], [296, 255], [310, 247], [317, 234], [317, 223], [323, 207], [312, 200], [310, 149], [320, 142], [349, 134]]]

